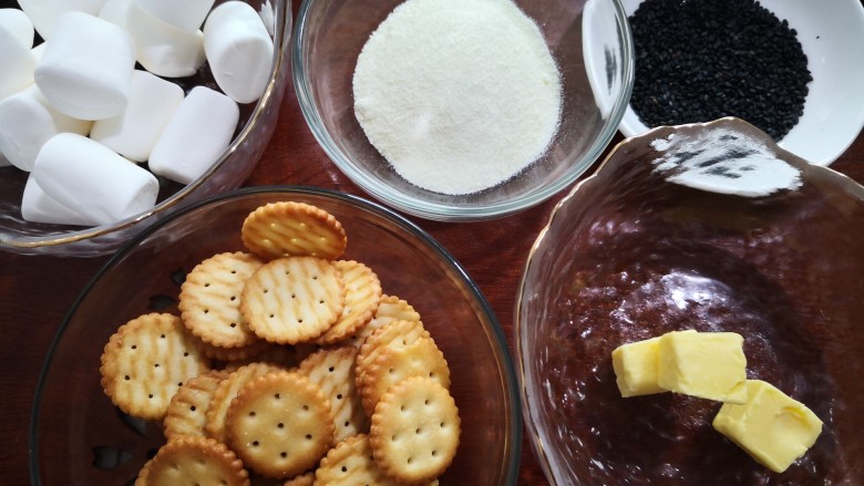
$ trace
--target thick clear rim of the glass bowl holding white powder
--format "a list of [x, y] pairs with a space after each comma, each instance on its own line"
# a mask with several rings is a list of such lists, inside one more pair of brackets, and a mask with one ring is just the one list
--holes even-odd
[[312, 135], [318, 141], [319, 146], [325, 151], [330, 161], [348, 176], [348, 178], [376, 199], [413, 216], [439, 221], [473, 221], [504, 217], [545, 201], [579, 178], [585, 170], [597, 161], [618, 132], [618, 126], [624, 117], [625, 110], [629, 105], [635, 65], [632, 35], [620, 0], [610, 0], [621, 33], [621, 50], [625, 59], [624, 65], [621, 66], [623, 91], [620, 96], [615, 100], [613, 108], [609, 111], [609, 117], [604, 124], [599, 136], [592, 143], [590, 147], [583, 156], [583, 162], [585, 164], [575, 165], [570, 172], [560, 176], [548, 186], [535, 188], [515, 199], [471, 207], [429, 201], [399, 189], [394, 189], [359, 168], [358, 165], [338, 147], [333, 138], [325, 128], [322, 117], [315, 102], [315, 95], [312, 94], [310, 84], [307, 82], [309, 76], [305, 66], [305, 61], [308, 59], [308, 55], [305, 53], [306, 46], [308, 45], [308, 20], [315, 2], [316, 0], [302, 0], [291, 35], [291, 61], [294, 66], [291, 75], [304, 118], [309, 125]]

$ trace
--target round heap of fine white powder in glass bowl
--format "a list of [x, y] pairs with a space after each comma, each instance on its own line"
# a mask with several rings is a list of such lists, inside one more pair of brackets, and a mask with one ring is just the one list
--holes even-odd
[[511, 0], [408, 0], [367, 41], [353, 77], [369, 141], [413, 185], [460, 195], [539, 158], [560, 80], [537, 25]]

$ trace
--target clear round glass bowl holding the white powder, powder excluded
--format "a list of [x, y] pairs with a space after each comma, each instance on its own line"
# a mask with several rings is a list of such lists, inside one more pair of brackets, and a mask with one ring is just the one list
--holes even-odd
[[[576, 180], [617, 131], [632, 87], [632, 45], [618, 0], [520, 0], [539, 27], [562, 75], [562, 123], [545, 155], [490, 189], [452, 196], [412, 185], [369, 143], [353, 110], [352, 77], [369, 35], [402, 0], [307, 0], [294, 42], [294, 83], [312, 134], [327, 155], [372, 197], [433, 220], [506, 216], [542, 203]], [[589, 42], [584, 32], [593, 33]], [[597, 83], [587, 58], [606, 66]], [[600, 62], [598, 61], [598, 62]]]

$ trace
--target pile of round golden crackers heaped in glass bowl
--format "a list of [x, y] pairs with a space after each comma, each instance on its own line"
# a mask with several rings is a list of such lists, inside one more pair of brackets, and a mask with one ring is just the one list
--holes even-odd
[[141, 316], [105, 345], [105, 394], [167, 440], [136, 485], [436, 484], [460, 416], [416, 310], [339, 259], [346, 231], [318, 207], [268, 204], [239, 229], [247, 251], [200, 261], [179, 316]]

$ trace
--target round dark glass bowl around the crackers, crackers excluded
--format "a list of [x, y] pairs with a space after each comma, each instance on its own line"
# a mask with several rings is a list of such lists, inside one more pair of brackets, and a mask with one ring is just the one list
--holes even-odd
[[33, 402], [33, 484], [131, 484], [155, 447], [158, 423], [132, 420], [100, 385], [109, 337], [150, 311], [177, 312], [179, 282], [204, 258], [243, 250], [239, 228], [267, 203], [296, 200], [332, 214], [348, 234], [342, 259], [372, 268], [385, 293], [411, 303], [443, 351], [462, 420], [442, 485], [514, 485], [522, 445], [516, 374], [501, 327], [476, 285], [439, 242], [393, 211], [306, 187], [255, 187], [214, 196], [152, 225], [93, 278], [54, 339]]

